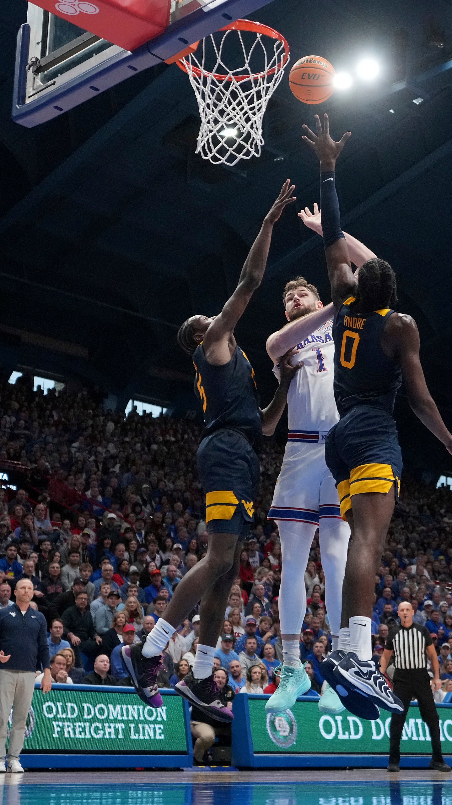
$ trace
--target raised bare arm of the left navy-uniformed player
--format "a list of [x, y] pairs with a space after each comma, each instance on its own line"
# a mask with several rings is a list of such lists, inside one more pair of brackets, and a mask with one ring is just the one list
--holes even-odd
[[228, 343], [232, 330], [235, 328], [240, 316], [244, 313], [254, 291], [260, 286], [269, 256], [273, 225], [275, 225], [281, 217], [281, 213], [286, 208], [287, 204], [292, 204], [296, 200], [295, 197], [292, 196], [293, 192], [294, 185], [291, 185], [288, 179], [285, 184], [283, 184], [273, 207], [265, 216], [261, 231], [257, 235], [251, 247], [251, 251], [244, 262], [236, 290], [224, 305], [220, 315], [216, 316], [216, 319], [212, 322], [204, 336], [203, 346], [206, 352], [208, 352], [209, 348], [212, 348], [212, 345], [215, 343], [220, 341], [224, 341], [226, 344]]

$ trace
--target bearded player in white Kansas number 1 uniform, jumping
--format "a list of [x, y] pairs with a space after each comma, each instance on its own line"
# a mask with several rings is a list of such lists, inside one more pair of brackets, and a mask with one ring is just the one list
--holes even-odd
[[[317, 204], [299, 213], [310, 229], [322, 234]], [[361, 266], [375, 257], [351, 235], [345, 235], [352, 262]], [[277, 691], [265, 709], [278, 712], [293, 707], [297, 696], [310, 687], [300, 663], [300, 630], [306, 613], [304, 574], [312, 540], [318, 528], [322, 567], [325, 573], [325, 604], [331, 626], [333, 649], [337, 648], [342, 584], [347, 561], [350, 528], [343, 522], [335, 481], [325, 464], [325, 437], [339, 420], [333, 392], [335, 345], [332, 337], [332, 304], [323, 307], [317, 288], [297, 277], [283, 293], [286, 324], [269, 336], [267, 352], [277, 356], [296, 349], [292, 365], [300, 367], [287, 395], [289, 436], [281, 473], [273, 495], [269, 518], [277, 522], [281, 539], [282, 572], [279, 617], [283, 664]], [[283, 347], [284, 345], [284, 347]], [[278, 351], [278, 350], [281, 350]], [[322, 712], [343, 710], [331, 687], [323, 691], [318, 707]]]

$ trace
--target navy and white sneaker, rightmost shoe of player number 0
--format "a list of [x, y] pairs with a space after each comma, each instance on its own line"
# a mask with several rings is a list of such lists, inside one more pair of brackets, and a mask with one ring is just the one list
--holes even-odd
[[357, 654], [350, 652], [336, 665], [333, 675], [336, 686], [342, 683], [348, 691], [360, 691], [368, 696], [373, 704], [389, 712], [404, 712], [401, 700], [394, 696], [383, 674], [376, 670], [372, 660], [360, 660]]

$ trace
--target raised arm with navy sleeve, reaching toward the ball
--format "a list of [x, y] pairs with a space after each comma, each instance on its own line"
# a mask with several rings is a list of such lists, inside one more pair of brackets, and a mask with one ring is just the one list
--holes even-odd
[[303, 129], [309, 136], [303, 134], [303, 140], [315, 151], [320, 162], [320, 208], [322, 209], [323, 247], [327, 258], [328, 276], [331, 282], [331, 299], [336, 309], [355, 291], [357, 285], [351, 270], [350, 256], [347, 242], [343, 236], [339, 222], [339, 201], [335, 188], [335, 165], [350, 132], [335, 142], [330, 137], [328, 115], [324, 115], [323, 128], [318, 118], [314, 116], [317, 134], [306, 125]]

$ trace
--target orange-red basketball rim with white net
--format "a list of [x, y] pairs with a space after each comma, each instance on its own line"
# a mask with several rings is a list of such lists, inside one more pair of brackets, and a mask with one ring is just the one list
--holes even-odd
[[[240, 55], [241, 64], [229, 68], [224, 62], [230, 50], [236, 60], [239, 45], [243, 60]], [[202, 48], [199, 58], [195, 51], [177, 61], [188, 73], [199, 105], [196, 153], [229, 166], [260, 156], [265, 109], [290, 59], [286, 39], [266, 25], [238, 19], [203, 39]]]

